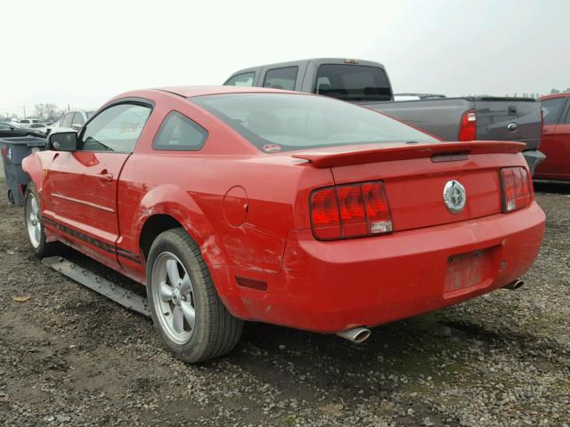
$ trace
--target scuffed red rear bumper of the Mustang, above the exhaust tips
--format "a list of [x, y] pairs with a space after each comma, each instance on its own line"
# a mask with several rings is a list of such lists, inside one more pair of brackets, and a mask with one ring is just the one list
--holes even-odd
[[[234, 315], [250, 320], [325, 333], [376, 326], [519, 278], [538, 255], [544, 221], [533, 202], [512, 214], [372, 238], [320, 242], [310, 230], [293, 230], [278, 273], [227, 270], [233, 285], [223, 298]], [[489, 257], [484, 276], [467, 288], [445, 291], [450, 257], [474, 251]], [[235, 276], [265, 281], [267, 290], [236, 286]]]

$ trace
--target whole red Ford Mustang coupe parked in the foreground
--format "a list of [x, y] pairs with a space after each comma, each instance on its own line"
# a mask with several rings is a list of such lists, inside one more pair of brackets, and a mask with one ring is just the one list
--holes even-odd
[[263, 88], [125, 93], [24, 161], [37, 256], [59, 240], [147, 286], [167, 347], [222, 355], [242, 320], [353, 341], [509, 286], [544, 214], [524, 145], [442, 142]]

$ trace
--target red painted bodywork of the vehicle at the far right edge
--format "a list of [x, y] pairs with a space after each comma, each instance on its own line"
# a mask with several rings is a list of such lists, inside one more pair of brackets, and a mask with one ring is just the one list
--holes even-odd
[[[570, 99], [570, 93], [556, 93], [544, 96], [541, 100], [554, 98]], [[565, 115], [566, 111], [562, 111], [558, 124], [545, 124], [542, 127], [541, 151], [546, 159], [534, 171], [534, 178], [570, 181], [570, 123], [566, 123], [570, 119], [570, 113], [566, 122]]]

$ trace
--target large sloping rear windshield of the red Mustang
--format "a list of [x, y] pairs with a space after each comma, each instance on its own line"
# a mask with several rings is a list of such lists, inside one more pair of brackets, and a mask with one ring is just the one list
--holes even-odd
[[197, 96], [189, 101], [222, 119], [265, 152], [335, 145], [437, 141], [427, 133], [378, 112], [321, 96], [232, 93]]

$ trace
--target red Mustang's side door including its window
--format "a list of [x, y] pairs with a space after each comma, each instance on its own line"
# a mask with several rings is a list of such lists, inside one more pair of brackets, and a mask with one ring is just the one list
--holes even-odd
[[77, 150], [54, 152], [48, 172], [48, 224], [61, 237], [111, 266], [118, 265], [118, 177], [134, 150], [151, 105], [122, 101], [103, 109], [83, 126]]

